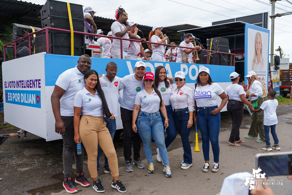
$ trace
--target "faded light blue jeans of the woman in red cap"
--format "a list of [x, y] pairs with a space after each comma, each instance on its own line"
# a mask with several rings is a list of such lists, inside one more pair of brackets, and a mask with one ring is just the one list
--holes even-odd
[[164, 129], [161, 122], [160, 113], [147, 113], [140, 111], [138, 114], [136, 126], [137, 132], [143, 141], [144, 153], [148, 164], [153, 163], [151, 149], [151, 136], [153, 136], [155, 143], [159, 148], [159, 153], [164, 166], [169, 165], [167, 149], [164, 142]]

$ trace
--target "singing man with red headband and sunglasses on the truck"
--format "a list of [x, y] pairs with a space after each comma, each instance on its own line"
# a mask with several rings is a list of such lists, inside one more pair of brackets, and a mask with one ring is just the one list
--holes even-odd
[[[130, 37], [131, 39], [146, 42], [146, 39], [141, 39], [140, 37], [137, 37], [132, 32], [130, 32], [131, 27], [130, 25], [127, 25], [128, 14], [123, 8], [119, 7], [117, 9], [115, 17], [117, 21], [112, 23], [111, 26], [113, 37], [121, 37], [126, 39], [129, 39]], [[123, 59], [127, 58], [129, 45], [130, 41], [123, 40]], [[121, 59], [121, 44], [119, 39], [113, 39], [111, 58]]]

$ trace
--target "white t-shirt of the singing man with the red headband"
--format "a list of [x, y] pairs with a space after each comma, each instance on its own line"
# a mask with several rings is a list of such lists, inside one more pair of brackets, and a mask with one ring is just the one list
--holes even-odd
[[[111, 30], [112, 30], [112, 36], [116, 37], [117, 32], [122, 32], [126, 29], [126, 26], [124, 24], [121, 24], [118, 21], [115, 21], [112, 23]], [[129, 31], [121, 38], [129, 39]], [[130, 41], [123, 40], [123, 51], [128, 51], [130, 45]], [[112, 49], [117, 50], [121, 49], [121, 41], [119, 39], [113, 39], [112, 40]]]

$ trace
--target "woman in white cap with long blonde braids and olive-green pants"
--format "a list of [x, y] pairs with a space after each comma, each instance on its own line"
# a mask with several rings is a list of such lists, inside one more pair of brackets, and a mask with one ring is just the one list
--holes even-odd
[[[248, 80], [248, 87], [246, 89], [246, 97], [249, 97], [251, 103], [258, 103], [258, 108], [262, 105], [264, 101], [267, 100], [267, 87], [261, 80], [256, 76], [256, 73], [250, 71], [244, 77]], [[254, 106], [255, 107], [255, 106]], [[257, 108], [255, 107], [255, 109]], [[260, 136], [260, 139], [258, 138]], [[251, 127], [249, 128], [248, 135], [246, 138], [257, 139], [257, 142], [265, 143], [265, 133], [264, 133], [264, 110], [261, 112], [253, 112], [251, 115]]]

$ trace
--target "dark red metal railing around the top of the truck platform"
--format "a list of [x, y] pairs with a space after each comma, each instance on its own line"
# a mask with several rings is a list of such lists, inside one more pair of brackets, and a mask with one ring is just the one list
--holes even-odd
[[[32, 48], [31, 48], [31, 35], [33, 34], [36, 34], [36, 33], [39, 33], [39, 32], [42, 32], [42, 31], [46, 31], [46, 52], [47, 54], [49, 54], [49, 30], [54, 30], [54, 31], [60, 31], [60, 32], [71, 32], [70, 30], [64, 30], [64, 29], [59, 29], [59, 28], [51, 28], [51, 27], [45, 27], [41, 30], [38, 30], [38, 31], [35, 31], [35, 32], [32, 32], [32, 33], [29, 33], [19, 39], [16, 39], [6, 45], [3, 46], [3, 51], [4, 51], [4, 62], [6, 61], [6, 53], [5, 53], [5, 49], [6, 47], [12, 47], [14, 48], [14, 51], [15, 51], [15, 54], [16, 54], [16, 50], [17, 50], [17, 46], [16, 46], [16, 42], [17, 41], [20, 41], [21, 39], [24, 39], [26, 37], [28, 37], [28, 40], [29, 40], [29, 55], [32, 54]], [[79, 32], [79, 31], [73, 31], [75, 34], [83, 34], [83, 35], [90, 35], [90, 36], [93, 36], [94, 34], [92, 33], [86, 33], [86, 32]], [[96, 36], [96, 35], [95, 35]], [[140, 40], [134, 40], [134, 39], [125, 39], [125, 38], [120, 38], [120, 37], [110, 37], [110, 36], [106, 36], [106, 35], [101, 35], [99, 34], [98, 37], [106, 37], [106, 38], [111, 38], [111, 39], [120, 39], [120, 42], [121, 42], [121, 59], [123, 59], [123, 40], [125, 41], [135, 41], [135, 42], [143, 42], [143, 41], [140, 41]], [[14, 46], [9, 46], [10, 44], [13, 44], [14, 43]], [[150, 43], [150, 44], [157, 44], [157, 45], [163, 45], [163, 46], [170, 46], [171, 48], [172, 47], [178, 47], [178, 48], [185, 48], [185, 49], [194, 49], [194, 48], [191, 48], [191, 47], [182, 47], [182, 46], [177, 46], [177, 45], [169, 45], [169, 44], [162, 44], [162, 43], [154, 43], [154, 42], [146, 42], [146, 43]], [[231, 55], [233, 56], [233, 66], [235, 65], [235, 54], [230, 54], [230, 53], [224, 53], [224, 52], [218, 52], [218, 51], [210, 51], [210, 50], [206, 50], [206, 49], [197, 49], [198, 51], [201, 50], [201, 51], [207, 51], [207, 64], [209, 64], [209, 55], [210, 55], [210, 52], [212, 53], [221, 53], [221, 54], [228, 54], [228, 55]], [[15, 56], [15, 58], [17, 58]]]

